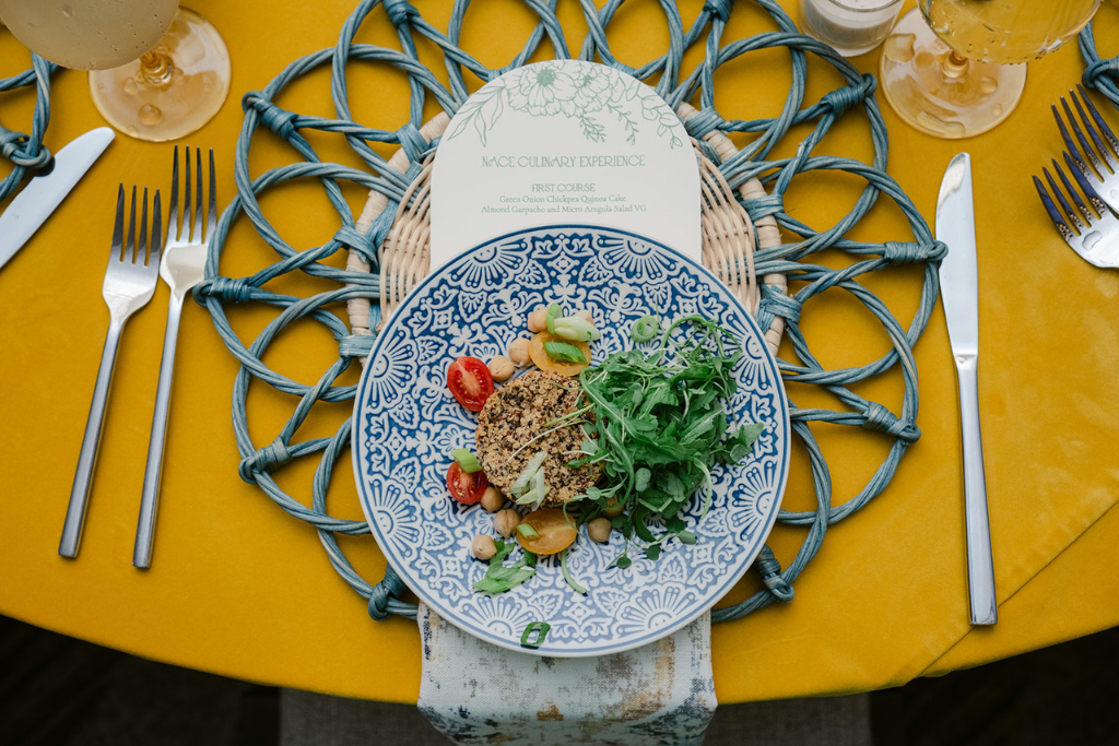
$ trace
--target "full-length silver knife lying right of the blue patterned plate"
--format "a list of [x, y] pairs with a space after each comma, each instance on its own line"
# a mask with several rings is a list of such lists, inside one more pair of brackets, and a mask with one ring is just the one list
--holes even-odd
[[979, 363], [979, 268], [971, 202], [971, 157], [967, 153], [960, 153], [949, 162], [940, 182], [937, 238], [948, 245], [948, 256], [940, 265], [940, 293], [960, 388], [963, 517], [967, 523], [971, 623], [994, 624], [998, 621], [998, 603], [995, 599], [995, 563], [990, 549], [976, 375]]

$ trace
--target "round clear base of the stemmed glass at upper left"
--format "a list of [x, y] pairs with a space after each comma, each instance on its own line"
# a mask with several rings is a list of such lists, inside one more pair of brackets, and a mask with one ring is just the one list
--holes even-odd
[[163, 142], [210, 121], [229, 93], [229, 53], [217, 29], [180, 8], [154, 49], [134, 63], [90, 73], [90, 87], [115, 129]]

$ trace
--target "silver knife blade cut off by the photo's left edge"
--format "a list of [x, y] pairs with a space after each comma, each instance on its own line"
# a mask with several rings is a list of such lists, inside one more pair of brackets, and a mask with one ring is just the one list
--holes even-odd
[[32, 178], [0, 215], [0, 267], [18, 252], [93, 166], [114, 133], [107, 126], [91, 130], [55, 153], [49, 173]]

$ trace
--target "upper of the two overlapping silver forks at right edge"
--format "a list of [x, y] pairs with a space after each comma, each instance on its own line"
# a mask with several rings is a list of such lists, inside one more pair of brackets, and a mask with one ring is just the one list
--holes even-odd
[[[1076, 134], [1076, 142], [1069, 134], [1069, 129], [1065, 128], [1056, 104], [1051, 105], [1057, 129], [1061, 130], [1061, 139], [1064, 140], [1066, 152], [1072, 158], [1070, 168], [1080, 172], [1111, 209], [1119, 210], [1119, 160], [1116, 158], [1119, 154], [1119, 139], [1116, 138], [1111, 128], [1103, 121], [1099, 110], [1088, 97], [1084, 86], [1078, 83], [1076, 91], [1080, 93], [1079, 96], [1076, 92], [1070, 91], [1069, 97], [1072, 98], [1072, 104], [1075, 106], [1076, 113], [1080, 114], [1080, 121], [1083, 122], [1084, 130], [1088, 131], [1088, 138], [1081, 131], [1076, 117], [1072, 115], [1072, 108], [1069, 107], [1069, 102], [1064, 96], [1061, 96], [1061, 107], [1064, 110], [1069, 126]], [[1081, 101], [1083, 101], [1083, 105], [1081, 105]], [[1085, 108], [1088, 113], [1084, 112]], [[1089, 143], [1089, 138], [1091, 143]]]

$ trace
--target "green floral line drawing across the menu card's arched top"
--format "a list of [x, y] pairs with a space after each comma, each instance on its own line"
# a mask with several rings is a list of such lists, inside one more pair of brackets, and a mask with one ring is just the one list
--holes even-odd
[[506, 108], [530, 116], [566, 116], [591, 142], [605, 142], [604, 122], [622, 124], [626, 142], [637, 144], [642, 129], [684, 145], [680, 124], [656, 91], [612, 67], [580, 62], [538, 63], [502, 75], [458, 111], [446, 138], [473, 130], [482, 144]]

